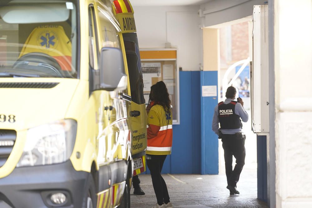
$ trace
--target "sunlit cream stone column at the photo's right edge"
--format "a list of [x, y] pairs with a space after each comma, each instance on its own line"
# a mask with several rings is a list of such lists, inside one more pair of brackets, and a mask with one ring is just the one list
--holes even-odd
[[312, 2], [274, 1], [276, 207], [312, 207]]

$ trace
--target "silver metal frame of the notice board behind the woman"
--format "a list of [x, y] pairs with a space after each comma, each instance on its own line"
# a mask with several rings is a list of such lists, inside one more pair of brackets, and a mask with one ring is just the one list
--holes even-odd
[[177, 89], [177, 100], [176, 100], [176, 107], [177, 107], [177, 119], [172, 121], [172, 124], [180, 124], [180, 78], [179, 78], [179, 64], [178, 64], [178, 49], [177, 48], [144, 48], [140, 49], [140, 51], [177, 51], [177, 58], [176, 59], [141, 59], [141, 61], [166, 61], [166, 60], [175, 60], [177, 62], [177, 69], [176, 69], [176, 78], [177, 82], [175, 88]]

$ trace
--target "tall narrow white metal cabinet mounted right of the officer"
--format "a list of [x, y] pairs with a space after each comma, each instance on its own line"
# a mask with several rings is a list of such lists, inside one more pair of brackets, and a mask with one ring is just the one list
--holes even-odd
[[258, 135], [269, 134], [268, 6], [253, 10], [253, 60], [251, 70], [251, 126]]

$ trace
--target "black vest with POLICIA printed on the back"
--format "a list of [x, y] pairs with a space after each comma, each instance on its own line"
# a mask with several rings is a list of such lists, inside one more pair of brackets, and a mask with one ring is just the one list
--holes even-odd
[[243, 126], [239, 115], [235, 114], [236, 104], [237, 101], [231, 101], [228, 104], [220, 102], [218, 104], [218, 117], [221, 129], [237, 129]]

